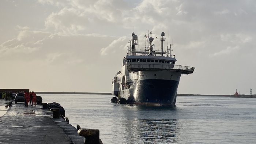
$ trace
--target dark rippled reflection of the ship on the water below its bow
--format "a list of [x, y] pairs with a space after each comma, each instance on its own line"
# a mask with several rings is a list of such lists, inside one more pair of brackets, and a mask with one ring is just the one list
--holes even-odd
[[122, 108], [124, 119], [120, 122], [123, 127], [121, 137], [127, 143], [166, 143], [166, 141], [176, 143], [178, 141], [180, 137], [178, 120], [163, 119], [161, 116], [175, 115], [175, 107], [136, 105]]

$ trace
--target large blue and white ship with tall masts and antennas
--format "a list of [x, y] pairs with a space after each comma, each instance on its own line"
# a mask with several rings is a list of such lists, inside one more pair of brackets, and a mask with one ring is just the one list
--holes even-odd
[[[144, 35], [145, 45], [138, 48], [138, 36], [132, 33], [123, 58], [121, 71], [112, 79], [111, 102], [119, 104], [175, 105], [181, 75], [193, 73], [194, 67], [175, 65], [172, 46], [163, 50], [165, 33], [157, 38], [161, 48], [155, 47], [153, 33]], [[143, 37], [143, 36], [142, 36]], [[144, 39], [143, 38], [143, 39]], [[158, 43], [159, 43], [158, 41]]]

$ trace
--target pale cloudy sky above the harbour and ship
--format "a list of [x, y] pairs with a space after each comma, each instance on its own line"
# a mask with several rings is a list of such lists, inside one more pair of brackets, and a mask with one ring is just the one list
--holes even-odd
[[[179, 94], [256, 94], [254, 0], [1, 0], [0, 88], [111, 92], [134, 32], [165, 32]], [[160, 48], [160, 42], [153, 42]]]

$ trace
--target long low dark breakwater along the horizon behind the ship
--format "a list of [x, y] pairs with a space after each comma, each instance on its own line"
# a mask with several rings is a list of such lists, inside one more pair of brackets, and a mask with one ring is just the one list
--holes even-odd
[[[110, 92], [35, 92], [36, 94], [72, 94], [72, 95], [111, 95]], [[230, 95], [201, 95], [201, 94], [177, 94], [178, 96], [225, 96]]]

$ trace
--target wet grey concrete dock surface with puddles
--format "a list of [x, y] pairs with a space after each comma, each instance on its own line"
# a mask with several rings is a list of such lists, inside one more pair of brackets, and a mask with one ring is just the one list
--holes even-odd
[[[0, 144], [83, 144], [84, 137], [63, 118], [52, 118], [53, 113], [42, 105], [25, 106], [0, 101], [8, 109], [0, 117]], [[2, 111], [3, 112], [3, 111]]]

